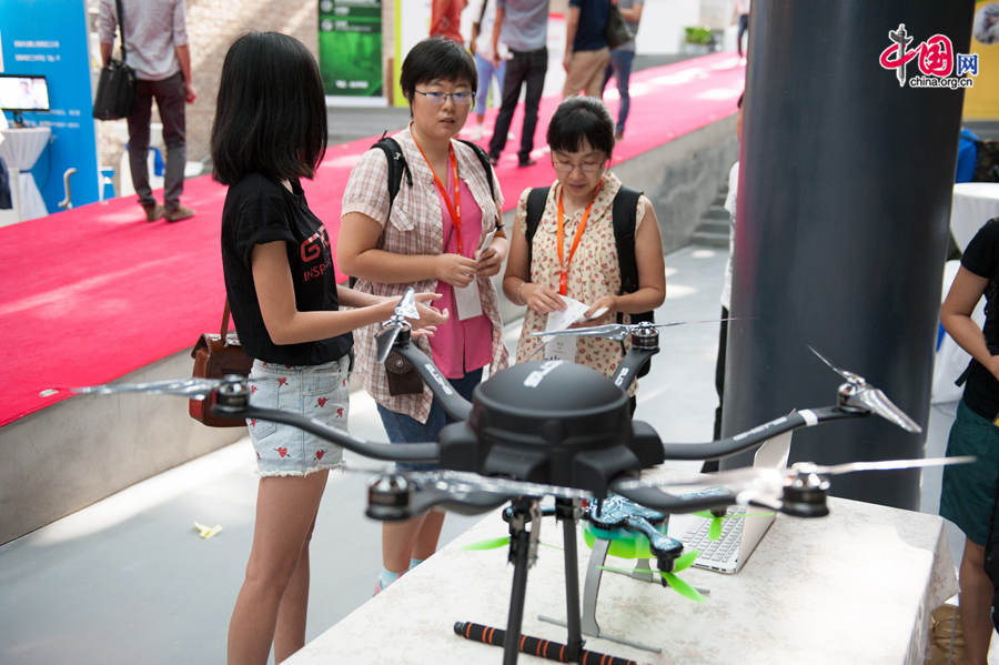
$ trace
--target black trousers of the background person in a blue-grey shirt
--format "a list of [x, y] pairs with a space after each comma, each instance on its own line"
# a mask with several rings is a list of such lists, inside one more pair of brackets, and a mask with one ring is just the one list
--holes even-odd
[[521, 98], [521, 87], [526, 85], [524, 97], [524, 128], [521, 131], [521, 150], [517, 159], [525, 162], [534, 150], [534, 130], [537, 128], [537, 108], [541, 105], [541, 95], [545, 87], [545, 74], [548, 71], [548, 49], [536, 51], [511, 51], [513, 59], [506, 63], [506, 74], [503, 79], [503, 101], [500, 105], [500, 114], [496, 115], [496, 125], [493, 128], [493, 138], [490, 139], [490, 157], [500, 159], [500, 153], [506, 147], [506, 134], [509, 132], [509, 123], [513, 112], [517, 108]]

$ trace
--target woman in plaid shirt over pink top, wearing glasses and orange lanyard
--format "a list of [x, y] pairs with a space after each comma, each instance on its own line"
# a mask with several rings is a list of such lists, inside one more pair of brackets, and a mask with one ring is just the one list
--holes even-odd
[[[428, 344], [417, 345], [466, 400], [483, 370], [498, 372], [508, 355], [490, 279], [506, 256], [503, 198], [485, 155], [455, 140], [468, 117], [475, 81], [472, 56], [455, 42], [425, 39], [406, 54], [400, 85], [413, 120], [392, 138], [412, 181], [403, 179], [390, 203], [386, 155], [380, 149], [365, 152], [343, 193], [336, 248], [341, 266], [357, 278], [360, 291], [397, 296], [412, 285], [441, 294], [436, 306], [451, 316]], [[376, 332], [377, 325], [371, 325], [355, 333], [356, 373], [377, 402], [389, 440], [436, 441], [448, 422], [443, 406], [422, 382], [415, 392], [393, 394], [385, 367], [375, 360]], [[434, 553], [443, 524], [441, 511], [382, 524], [383, 568], [375, 593]]]

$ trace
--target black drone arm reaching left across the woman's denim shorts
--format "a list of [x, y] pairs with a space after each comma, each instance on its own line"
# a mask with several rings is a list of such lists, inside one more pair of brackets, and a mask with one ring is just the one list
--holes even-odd
[[232, 407], [213, 404], [212, 411], [216, 415], [226, 417], [249, 417], [292, 425], [315, 434], [324, 441], [342, 445], [349, 451], [373, 460], [383, 460], [385, 462], [437, 462], [441, 459], [441, 449], [436, 443], [372, 443], [351, 436], [343, 430], [331, 427], [316, 420], [278, 409], [260, 409], [249, 405], [246, 409], [240, 409], [236, 412]]

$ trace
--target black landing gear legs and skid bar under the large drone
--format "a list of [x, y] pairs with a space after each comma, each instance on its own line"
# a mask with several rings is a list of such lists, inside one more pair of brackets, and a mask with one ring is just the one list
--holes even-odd
[[[513, 591], [509, 597], [509, 615], [506, 631], [471, 622], [454, 624], [454, 632], [466, 639], [484, 644], [503, 644], [503, 665], [515, 665], [519, 652], [559, 663], [601, 663], [602, 665], [637, 665], [634, 661], [583, 648], [579, 621], [579, 570], [576, 553], [576, 522], [581, 508], [578, 501], [557, 498], [555, 515], [563, 524], [565, 546], [565, 604], [568, 617], [566, 644], [521, 634], [524, 618], [524, 596], [527, 590], [527, 568], [537, 558], [541, 510], [537, 500], [518, 498], [504, 513], [509, 522], [509, 561], [514, 564]], [[531, 531], [527, 523], [532, 522]]]

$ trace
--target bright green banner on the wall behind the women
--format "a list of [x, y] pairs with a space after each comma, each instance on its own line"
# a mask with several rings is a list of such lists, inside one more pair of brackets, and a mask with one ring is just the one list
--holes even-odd
[[383, 97], [382, 1], [320, 0], [323, 89], [333, 97]]

